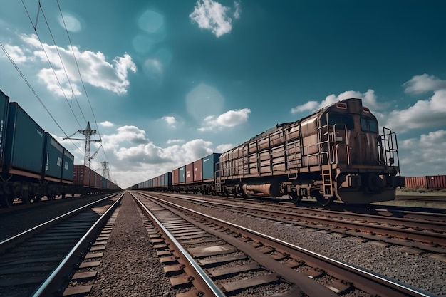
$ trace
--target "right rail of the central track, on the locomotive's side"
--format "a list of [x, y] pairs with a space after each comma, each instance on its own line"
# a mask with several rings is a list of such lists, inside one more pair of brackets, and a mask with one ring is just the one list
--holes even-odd
[[[146, 194], [147, 195], [147, 194]], [[318, 254], [314, 251], [310, 251], [308, 249], [304, 249], [300, 246], [296, 246], [294, 244], [290, 244], [286, 241], [282, 241], [281, 239], [276, 239], [274, 237], [271, 237], [266, 234], [261, 234], [260, 232], [253, 231], [251, 229], [247, 229], [244, 226], [239, 226], [237, 224], [233, 224], [231, 222], [224, 221], [222, 219], [217, 219], [214, 217], [211, 217], [207, 214], [203, 214], [201, 212], [197, 212], [193, 209], [188, 209], [187, 207], [182, 207], [180, 205], [174, 204], [172, 202], [165, 201], [163, 199], [153, 197], [151, 195], [147, 195], [148, 197], [161, 200], [163, 203], [169, 204], [172, 207], [175, 207], [177, 209], [182, 209], [185, 212], [193, 213], [199, 217], [204, 217], [206, 219], [212, 220], [214, 222], [219, 222], [219, 224], [225, 224], [227, 226], [230, 226], [231, 228], [237, 229], [238, 231], [244, 231], [252, 236], [256, 236], [259, 241], [270, 241], [271, 244], [281, 244], [282, 246], [289, 249], [289, 254], [291, 254], [293, 251], [298, 252], [302, 255], [302, 257], [308, 259], [308, 262], [313, 261], [313, 263], [316, 261], [320, 265], [324, 264], [324, 269], [326, 271], [336, 271], [338, 269], [342, 269], [344, 273], [334, 273], [334, 276], [341, 277], [343, 279], [356, 279], [361, 278], [363, 281], [366, 280], [366, 283], [355, 283], [356, 288], [360, 288], [363, 291], [368, 291], [368, 293], [371, 293], [370, 291], [373, 291], [374, 293], [378, 294], [377, 296], [389, 296], [389, 297], [397, 297], [397, 296], [417, 296], [417, 297], [435, 297], [435, 295], [432, 295], [426, 291], [422, 291], [418, 288], [414, 288], [413, 286], [408, 286], [405, 283], [401, 283], [399, 281], [396, 281], [394, 279], [388, 278], [386, 276], [382, 276], [378, 273], [374, 273], [373, 271], [368, 271], [366, 269], [362, 269], [361, 267], [354, 266], [353, 264], [348, 264], [343, 261], [339, 261], [336, 259], [332, 259], [328, 256], [323, 256], [321, 254]], [[265, 244], [265, 242], [264, 242]], [[311, 259], [312, 260], [311, 260]], [[368, 289], [368, 290], [367, 290]]]

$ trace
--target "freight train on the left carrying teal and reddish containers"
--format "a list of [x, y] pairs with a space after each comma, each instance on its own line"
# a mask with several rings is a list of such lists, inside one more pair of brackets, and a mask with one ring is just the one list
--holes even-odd
[[[84, 165], [0, 90], [0, 205], [23, 204], [66, 194], [117, 191], [113, 182]], [[81, 168], [76, 170], [75, 168]], [[82, 172], [81, 174], [75, 173]], [[84, 173], [85, 172], [85, 173]], [[97, 180], [100, 180], [98, 182]]]

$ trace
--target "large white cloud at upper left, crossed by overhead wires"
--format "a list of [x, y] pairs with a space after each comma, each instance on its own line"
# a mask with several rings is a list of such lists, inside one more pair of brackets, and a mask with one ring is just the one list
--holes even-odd
[[[76, 46], [61, 48], [43, 43], [44, 52], [36, 35], [23, 35], [21, 39], [25, 44], [21, 51], [12, 51], [16, 56], [14, 61], [23, 63], [33, 59], [41, 61], [42, 65], [48, 65], [48, 56], [54, 71], [51, 68], [42, 68], [38, 72], [38, 78], [46, 84], [48, 90], [59, 96], [65, 95], [67, 98], [71, 98], [71, 93], [81, 95], [81, 78], [78, 75], [76, 61], [84, 83], [110, 90], [118, 95], [127, 93], [127, 88], [130, 85], [128, 71], [136, 72], [135, 63], [127, 53], [122, 57], [116, 57], [109, 63], [100, 52], [79, 51]], [[12, 47], [15, 48], [15, 46]], [[76, 61], [73, 58], [73, 52]]]

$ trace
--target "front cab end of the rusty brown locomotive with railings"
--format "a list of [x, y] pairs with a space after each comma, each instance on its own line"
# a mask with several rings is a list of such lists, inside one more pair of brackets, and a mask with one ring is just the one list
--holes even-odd
[[[395, 133], [383, 128], [361, 99], [335, 103], [320, 116], [321, 202], [337, 197], [362, 204], [392, 200], [400, 177]], [[317, 197], [316, 197], [317, 198]]]

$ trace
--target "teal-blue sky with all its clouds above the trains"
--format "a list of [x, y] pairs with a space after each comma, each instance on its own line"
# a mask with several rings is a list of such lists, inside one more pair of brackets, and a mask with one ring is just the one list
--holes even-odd
[[76, 164], [84, 143], [62, 138], [90, 121], [103, 140], [91, 167], [109, 162], [121, 187], [351, 97], [397, 133], [403, 175], [446, 174], [445, 12], [442, 0], [6, 1], [0, 89]]

